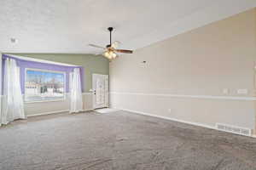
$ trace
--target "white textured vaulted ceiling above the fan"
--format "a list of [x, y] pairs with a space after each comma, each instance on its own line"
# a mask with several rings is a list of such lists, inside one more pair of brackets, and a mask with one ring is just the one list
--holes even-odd
[[88, 44], [105, 46], [108, 26], [120, 48], [143, 48], [255, 6], [255, 0], [1, 0], [0, 51], [96, 54], [101, 50]]

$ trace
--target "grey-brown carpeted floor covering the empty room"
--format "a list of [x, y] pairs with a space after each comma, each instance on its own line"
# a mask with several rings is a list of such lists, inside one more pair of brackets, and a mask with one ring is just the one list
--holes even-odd
[[125, 111], [0, 127], [1, 170], [255, 170], [256, 139]]

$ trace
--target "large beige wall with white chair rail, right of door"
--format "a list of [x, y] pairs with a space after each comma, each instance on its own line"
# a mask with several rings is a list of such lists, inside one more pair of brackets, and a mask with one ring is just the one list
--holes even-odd
[[253, 129], [255, 64], [253, 9], [111, 62], [111, 105], [206, 126], [222, 122]]

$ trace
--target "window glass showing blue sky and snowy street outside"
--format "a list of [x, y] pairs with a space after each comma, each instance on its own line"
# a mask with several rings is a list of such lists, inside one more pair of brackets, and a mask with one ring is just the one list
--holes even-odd
[[65, 72], [26, 69], [25, 101], [65, 99]]

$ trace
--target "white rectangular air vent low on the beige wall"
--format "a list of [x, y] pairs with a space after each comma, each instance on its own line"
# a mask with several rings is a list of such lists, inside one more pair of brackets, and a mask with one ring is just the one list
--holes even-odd
[[252, 134], [251, 129], [244, 128], [244, 127], [234, 127], [234, 126], [225, 125], [221, 123], [216, 123], [216, 127], [218, 130], [229, 132], [229, 133], [236, 133], [236, 134], [241, 134], [246, 136], [251, 136]]

